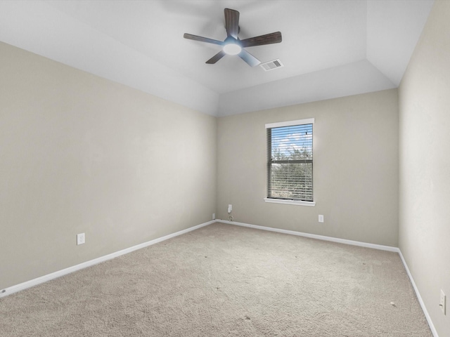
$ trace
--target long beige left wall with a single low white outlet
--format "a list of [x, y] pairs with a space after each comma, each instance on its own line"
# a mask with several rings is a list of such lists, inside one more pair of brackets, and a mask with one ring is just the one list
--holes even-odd
[[0, 289], [211, 220], [216, 135], [215, 117], [0, 43]]

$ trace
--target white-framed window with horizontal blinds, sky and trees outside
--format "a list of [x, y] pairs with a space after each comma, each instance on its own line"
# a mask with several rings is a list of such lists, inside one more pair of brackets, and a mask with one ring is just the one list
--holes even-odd
[[266, 124], [268, 202], [314, 206], [314, 119]]

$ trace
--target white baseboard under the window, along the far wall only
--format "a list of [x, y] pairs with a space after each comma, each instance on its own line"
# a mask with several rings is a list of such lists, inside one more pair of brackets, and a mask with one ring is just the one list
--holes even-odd
[[243, 227], [256, 228], [257, 230], [269, 230], [270, 232], [278, 232], [278, 233], [283, 233], [283, 234], [297, 235], [297, 237], [309, 237], [310, 239], [338, 242], [339, 244], [350, 244], [352, 246], [361, 246], [361, 247], [366, 247], [366, 248], [379, 249], [380, 251], [394, 251], [397, 253], [400, 251], [397, 247], [392, 247], [392, 246], [383, 246], [381, 244], [368, 244], [367, 242], [339, 239], [338, 237], [326, 237], [324, 235], [309, 234], [309, 233], [304, 233], [304, 232], [295, 232], [294, 230], [281, 230], [279, 228], [250, 225], [248, 223], [236, 223], [236, 221], [228, 221], [228, 220], [217, 220], [217, 222], [228, 223], [230, 225], [238, 225], [238, 226], [243, 226]]

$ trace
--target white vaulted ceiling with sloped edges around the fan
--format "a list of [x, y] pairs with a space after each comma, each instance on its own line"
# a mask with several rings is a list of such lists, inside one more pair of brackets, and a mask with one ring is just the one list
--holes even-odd
[[[0, 41], [186, 105], [225, 116], [399, 86], [433, 0], [0, 1]], [[264, 72], [237, 56], [205, 61], [224, 40], [224, 8]]]

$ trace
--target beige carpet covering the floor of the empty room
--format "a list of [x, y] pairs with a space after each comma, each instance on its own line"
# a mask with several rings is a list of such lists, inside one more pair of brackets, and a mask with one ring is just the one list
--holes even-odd
[[397, 253], [213, 224], [0, 299], [0, 336], [432, 336]]

